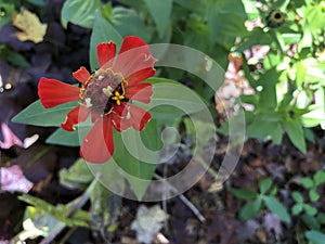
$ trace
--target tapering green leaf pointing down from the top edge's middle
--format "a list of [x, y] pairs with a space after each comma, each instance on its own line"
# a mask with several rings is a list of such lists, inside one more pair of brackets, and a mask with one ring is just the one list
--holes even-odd
[[155, 21], [159, 37], [162, 38], [170, 23], [172, 0], [145, 0], [145, 4]]

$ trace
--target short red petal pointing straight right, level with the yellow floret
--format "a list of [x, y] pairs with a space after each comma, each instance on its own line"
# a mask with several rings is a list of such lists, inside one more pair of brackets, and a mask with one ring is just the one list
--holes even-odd
[[151, 84], [138, 84], [126, 88], [126, 97], [130, 100], [150, 103], [152, 94], [153, 88]]

